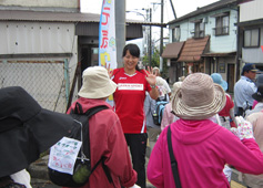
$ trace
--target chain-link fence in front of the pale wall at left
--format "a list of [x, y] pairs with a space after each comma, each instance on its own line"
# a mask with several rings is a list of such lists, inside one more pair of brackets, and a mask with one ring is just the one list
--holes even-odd
[[65, 113], [68, 61], [0, 61], [0, 88], [21, 86], [43, 107]]

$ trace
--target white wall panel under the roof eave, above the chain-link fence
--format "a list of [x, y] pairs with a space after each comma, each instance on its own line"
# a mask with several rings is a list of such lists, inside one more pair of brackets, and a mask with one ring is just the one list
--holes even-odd
[[0, 54], [75, 53], [73, 23], [0, 22]]

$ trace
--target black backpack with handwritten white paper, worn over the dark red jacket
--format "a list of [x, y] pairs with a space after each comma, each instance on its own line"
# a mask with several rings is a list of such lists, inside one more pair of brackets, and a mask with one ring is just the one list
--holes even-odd
[[[75, 107], [74, 107], [74, 109], [71, 111], [70, 115], [74, 118], [74, 121], [77, 123], [80, 124], [80, 127], [75, 133], [72, 134], [71, 138], [73, 138], [72, 142], [80, 140], [83, 144], [80, 146], [78, 157], [75, 157], [75, 159], [74, 159], [75, 163], [73, 166], [72, 174], [65, 173], [65, 170], [61, 171], [59, 168], [53, 168], [51, 166], [51, 163], [53, 163], [53, 164], [55, 163], [55, 166], [60, 166], [59, 161], [69, 160], [69, 156], [67, 156], [67, 154], [63, 154], [62, 158], [59, 161], [58, 160], [52, 161], [52, 160], [54, 160], [53, 159], [54, 157], [52, 158], [50, 156], [48, 170], [49, 170], [49, 178], [53, 184], [55, 184], [58, 186], [63, 186], [63, 187], [84, 186], [88, 182], [90, 175], [92, 174], [92, 171], [94, 171], [94, 169], [98, 167], [98, 165], [100, 163], [102, 163], [102, 167], [104, 169], [104, 173], [107, 174], [109, 181], [110, 182], [112, 181], [112, 179], [110, 177], [110, 173], [108, 171], [107, 166], [104, 166], [104, 164], [103, 164], [103, 158], [101, 158], [93, 167], [91, 167], [91, 158], [90, 158], [89, 118], [92, 115], [94, 115], [95, 113], [107, 109], [107, 108], [108, 108], [108, 106], [104, 106], [104, 105], [103, 106], [95, 106], [93, 108], [88, 109], [85, 113], [83, 113], [82, 106], [78, 102], [75, 103]], [[57, 144], [59, 144], [59, 142]], [[51, 147], [51, 152], [52, 152], [52, 149], [55, 150], [54, 146]], [[58, 150], [58, 148], [57, 148], [57, 150]], [[51, 154], [51, 152], [50, 152], [50, 154]], [[59, 153], [59, 154], [60, 154], [59, 156], [61, 156], [62, 153]], [[64, 166], [65, 164], [62, 164], [62, 165]]]

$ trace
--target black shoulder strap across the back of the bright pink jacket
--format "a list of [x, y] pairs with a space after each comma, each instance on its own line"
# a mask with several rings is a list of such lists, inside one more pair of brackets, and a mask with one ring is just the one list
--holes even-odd
[[176, 188], [181, 188], [182, 186], [181, 186], [179, 171], [178, 171], [178, 161], [173, 155], [170, 126], [168, 127], [168, 148], [169, 148], [169, 155], [170, 155], [170, 160], [171, 160], [171, 165], [172, 165], [173, 179], [174, 179]]

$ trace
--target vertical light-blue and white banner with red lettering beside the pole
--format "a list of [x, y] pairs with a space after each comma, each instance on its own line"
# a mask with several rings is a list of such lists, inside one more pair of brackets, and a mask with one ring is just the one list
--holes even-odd
[[[103, 0], [99, 28], [99, 65], [117, 69], [115, 0]], [[113, 96], [107, 102], [113, 106]]]

